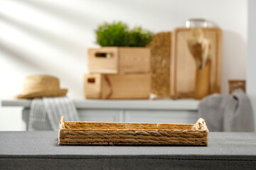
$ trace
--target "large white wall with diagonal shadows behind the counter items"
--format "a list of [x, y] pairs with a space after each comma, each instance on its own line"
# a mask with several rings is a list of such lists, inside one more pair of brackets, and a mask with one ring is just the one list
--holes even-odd
[[[223, 93], [228, 79], [245, 79], [245, 0], [1, 0], [0, 6], [0, 99], [20, 93], [29, 74], [53, 74], [68, 96], [82, 98], [87, 48], [95, 46], [93, 30], [103, 21], [157, 33], [206, 18], [223, 30]], [[0, 108], [0, 130], [20, 130], [20, 110]]]

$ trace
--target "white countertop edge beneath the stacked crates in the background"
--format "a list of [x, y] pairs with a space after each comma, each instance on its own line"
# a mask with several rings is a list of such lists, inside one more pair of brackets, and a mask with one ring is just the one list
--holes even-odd
[[[193, 99], [179, 100], [74, 100], [78, 109], [129, 109], [129, 110], [186, 110], [197, 111], [199, 101]], [[12, 99], [2, 100], [1, 106], [21, 106], [30, 108], [31, 100]]]

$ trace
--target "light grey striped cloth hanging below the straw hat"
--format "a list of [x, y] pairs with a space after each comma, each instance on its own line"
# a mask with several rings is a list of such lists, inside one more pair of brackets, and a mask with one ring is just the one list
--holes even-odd
[[58, 130], [60, 118], [79, 121], [73, 100], [67, 97], [34, 98], [28, 120], [28, 130]]

